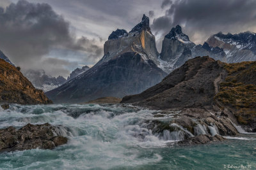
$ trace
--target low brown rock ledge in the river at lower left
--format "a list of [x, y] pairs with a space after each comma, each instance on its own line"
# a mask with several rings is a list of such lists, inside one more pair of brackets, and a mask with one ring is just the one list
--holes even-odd
[[30, 150], [35, 148], [53, 149], [64, 145], [68, 139], [56, 136], [56, 127], [50, 124], [28, 124], [19, 130], [14, 127], [0, 129], [0, 152]]

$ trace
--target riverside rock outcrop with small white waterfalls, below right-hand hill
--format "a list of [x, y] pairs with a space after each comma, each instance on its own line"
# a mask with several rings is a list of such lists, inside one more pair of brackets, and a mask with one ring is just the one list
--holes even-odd
[[228, 117], [202, 108], [157, 111], [154, 119], [146, 120], [142, 124], [145, 124], [144, 127], [150, 129], [159, 138], [179, 140], [180, 143], [184, 141], [187, 144], [203, 144], [222, 139], [217, 138], [216, 135], [236, 136], [239, 134]]

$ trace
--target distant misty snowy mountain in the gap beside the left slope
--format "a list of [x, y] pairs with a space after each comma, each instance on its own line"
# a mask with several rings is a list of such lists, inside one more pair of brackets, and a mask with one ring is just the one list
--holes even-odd
[[24, 76], [31, 81], [36, 89], [41, 89], [44, 92], [55, 89], [67, 81], [62, 76], [58, 76], [57, 78], [49, 76], [45, 74], [43, 69], [37, 71], [29, 69], [24, 73]]

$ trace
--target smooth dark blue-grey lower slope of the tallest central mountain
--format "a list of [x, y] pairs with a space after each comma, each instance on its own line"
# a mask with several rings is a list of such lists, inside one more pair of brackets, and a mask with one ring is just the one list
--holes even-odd
[[152, 60], [128, 52], [116, 59], [94, 66], [46, 95], [56, 103], [81, 103], [99, 97], [124, 97], [156, 85], [166, 73]]

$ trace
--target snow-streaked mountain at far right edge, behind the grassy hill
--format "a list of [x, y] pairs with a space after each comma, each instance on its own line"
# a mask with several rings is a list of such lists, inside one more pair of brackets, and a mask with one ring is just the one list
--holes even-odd
[[218, 34], [207, 39], [210, 46], [223, 48], [227, 55], [227, 62], [242, 62], [256, 60], [256, 34], [241, 32], [239, 34]]

